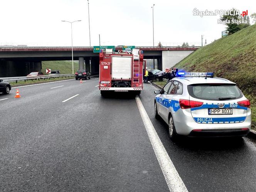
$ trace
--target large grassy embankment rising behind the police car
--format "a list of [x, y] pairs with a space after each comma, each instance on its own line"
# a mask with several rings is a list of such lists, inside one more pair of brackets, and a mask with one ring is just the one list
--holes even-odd
[[197, 49], [175, 65], [180, 71], [214, 72], [233, 81], [251, 101], [256, 125], [256, 25]]

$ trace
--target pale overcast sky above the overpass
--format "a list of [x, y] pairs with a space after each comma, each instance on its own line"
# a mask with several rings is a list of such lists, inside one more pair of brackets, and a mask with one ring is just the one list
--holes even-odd
[[[201, 34], [207, 44], [221, 37], [225, 25], [218, 16], [193, 16], [198, 10], [237, 8], [256, 12], [254, 1], [169, 1], [89, 0], [91, 45], [155, 46], [189, 42], [199, 45]], [[87, 0], [0, 0], [0, 45], [71, 46], [71, 26], [61, 20], [82, 20], [73, 24], [73, 46], [89, 46]]]

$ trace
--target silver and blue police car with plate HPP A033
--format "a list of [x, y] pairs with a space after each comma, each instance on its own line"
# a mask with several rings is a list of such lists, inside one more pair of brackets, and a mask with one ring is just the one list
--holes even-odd
[[155, 94], [155, 118], [169, 135], [246, 136], [251, 129], [250, 101], [227, 79], [212, 72], [178, 72]]

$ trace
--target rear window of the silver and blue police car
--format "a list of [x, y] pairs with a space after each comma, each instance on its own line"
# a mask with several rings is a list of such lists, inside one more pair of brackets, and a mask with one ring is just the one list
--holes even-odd
[[192, 84], [188, 86], [190, 96], [197, 99], [224, 101], [243, 96], [235, 84]]

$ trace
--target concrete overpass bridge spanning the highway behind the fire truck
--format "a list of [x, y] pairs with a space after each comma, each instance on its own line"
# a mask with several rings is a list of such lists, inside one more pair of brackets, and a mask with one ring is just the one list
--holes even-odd
[[[154, 68], [162, 70], [174, 66], [199, 47], [136, 48], [144, 51], [145, 59], [153, 59]], [[116, 51], [121, 49], [116, 47]], [[74, 60], [79, 61], [79, 69], [88, 69], [92, 74], [99, 72], [99, 57], [93, 47], [73, 47], [73, 55]], [[25, 76], [32, 71], [41, 71], [42, 61], [71, 59], [71, 47], [0, 47], [0, 77]]]

